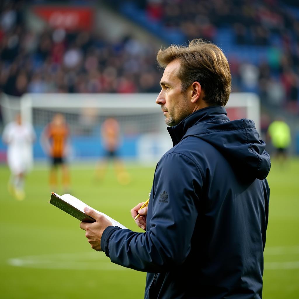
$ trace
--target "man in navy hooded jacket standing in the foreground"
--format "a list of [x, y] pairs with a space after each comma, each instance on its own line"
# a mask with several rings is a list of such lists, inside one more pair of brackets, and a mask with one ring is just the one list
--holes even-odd
[[146, 232], [112, 227], [93, 210], [86, 213], [97, 222], [80, 226], [113, 263], [148, 272], [145, 298], [261, 298], [265, 143], [253, 121], [226, 116], [231, 74], [216, 45], [193, 40], [160, 50], [157, 60], [165, 70], [156, 103], [173, 148], [157, 164], [147, 211], [139, 211]]

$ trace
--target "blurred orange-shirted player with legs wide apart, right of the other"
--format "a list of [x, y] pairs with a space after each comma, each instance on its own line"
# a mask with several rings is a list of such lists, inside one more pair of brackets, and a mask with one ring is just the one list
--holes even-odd
[[120, 184], [128, 184], [129, 174], [124, 169], [123, 163], [118, 156], [120, 145], [120, 129], [118, 121], [115, 118], [107, 118], [101, 127], [101, 135], [104, 148], [106, 150], [105, 158], [97, 165], [96, 177], [103, 179], [109, 160], [113, 162], [117, 180]]

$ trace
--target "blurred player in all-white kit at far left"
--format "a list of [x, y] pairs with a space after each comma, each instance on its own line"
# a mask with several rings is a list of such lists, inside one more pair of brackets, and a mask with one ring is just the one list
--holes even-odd
[[8, 190], [16, 199], [23, 200], [25, 176], [33, 165], [32, 143], [36, 139], [35, 132], [29, 123], [22, 123], [21, 115], [18, 114], [15, 121], [4, 127], [2, 138], [7, 144], [7, 164], [11, 171]]

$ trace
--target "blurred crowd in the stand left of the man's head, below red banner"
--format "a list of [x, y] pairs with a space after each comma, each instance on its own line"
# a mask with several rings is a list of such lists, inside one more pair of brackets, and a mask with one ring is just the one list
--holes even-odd
[[111, 43], [97, 32], [26, 29], [22, 2], [0, 15], [0, 88], [25, 92], [156, 92], [156, 49], [130, 36]]

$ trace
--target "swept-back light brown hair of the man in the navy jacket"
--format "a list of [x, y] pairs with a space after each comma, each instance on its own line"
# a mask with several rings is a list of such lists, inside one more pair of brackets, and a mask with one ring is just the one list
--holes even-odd
[[210, 106], [225, 106], [231, 93], [231, 72], [222, 50], [203, 39], [193, 39], [188, 47], [171, 45], [160, 49], [157, 61], [160, 67], [179, 59], [181, 67], [178, 78], [184, 93], [195, 81], [205, 91], [203, 100]]

